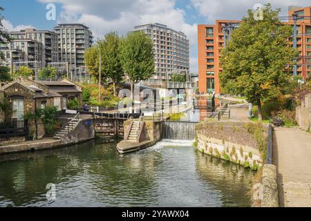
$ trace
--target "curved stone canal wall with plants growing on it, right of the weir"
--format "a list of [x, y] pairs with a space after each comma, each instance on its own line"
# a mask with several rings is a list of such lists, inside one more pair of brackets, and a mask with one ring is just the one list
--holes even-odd
[[202, 153], [253, 170], [265, 163], [262, 154], [267, 146], [265, 126], [242, 122], [204, 122], [196, 127], [196, 135], [196, 148]]

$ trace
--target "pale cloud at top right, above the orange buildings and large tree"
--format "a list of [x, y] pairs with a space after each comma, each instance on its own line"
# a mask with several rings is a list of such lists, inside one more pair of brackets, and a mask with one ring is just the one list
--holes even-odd
[[288, 6], [310, 6], [310, 0], [191, 0], [192, 5], [207, 22], [216, 19], [241, 19], [256, 3], [271, 3], [272, 8], [281, 8], [281, 15], [288, 15]]

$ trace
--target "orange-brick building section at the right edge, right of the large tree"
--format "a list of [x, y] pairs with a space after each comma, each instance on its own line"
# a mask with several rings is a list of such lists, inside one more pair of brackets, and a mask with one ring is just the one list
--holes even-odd
[[[311, 78], [311, 6], [301, 8], [291, 6], [288, 8], [288, 17], [296, 13], [297, 19], [297, 48], [299, 60], [297, 64], [297, 75], [306, 81]], [[293, 25], [294, 21], [289, 19], [288, 23]], [[292, 44], [292, 39], [290, 39]]]

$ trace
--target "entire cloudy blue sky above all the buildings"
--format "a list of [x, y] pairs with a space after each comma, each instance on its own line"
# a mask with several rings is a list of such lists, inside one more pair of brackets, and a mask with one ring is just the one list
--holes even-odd
[[[83, 23], [95, 39], [107, 32], [120, 35], [144, 23], [162, 23], [184, 32], [189, 39], [190, 72], [198, 72], [198, 24], [216, 19], [241, 19], [256, 3], [270, 2], [288, 15], [288, 6], [310, 6], [310, 0], [1, 0], [3, 25], [8, 30], [27, 27], [52, 30], [57, 23]], [[54, 3], [55, 20], [47, 20], [46, 6]]]

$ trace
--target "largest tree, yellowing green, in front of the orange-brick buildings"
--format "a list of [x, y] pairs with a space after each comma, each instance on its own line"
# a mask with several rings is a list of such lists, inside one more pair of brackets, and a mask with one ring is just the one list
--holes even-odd
[[[281, 95], [290, 80], [290, 66], [299, 52], [288, 44], [292, 28], [279, 21], [280, 9], [263, 8], [263, 20], [256, 21], [248, 10], [241, 26], [232, 32], [232, 39], [221, 52], [220, 87], [223, 93], [243, 95], [258, 105], [262, 120], [263, 102]], [[286, 68], [285, 68], [286, 67]]]

